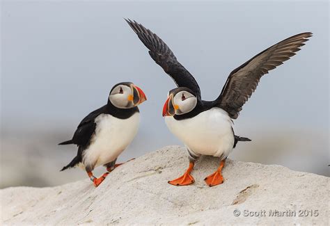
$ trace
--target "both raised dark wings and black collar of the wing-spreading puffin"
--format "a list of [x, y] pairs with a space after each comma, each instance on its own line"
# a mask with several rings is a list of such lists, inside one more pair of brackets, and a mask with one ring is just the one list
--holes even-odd
[[196, 95], [198, 102], [194, 110], [183, 115], [175, 115], [174, 118], [176, 120], [194, 117], [215, 106], [225, 110], [230, 118], [236, 119], [244, 103], [256, 90], [260, 78], [267, 74], [269, 70], [273, 70], [278, 65], [283, 64], [285, 60], [294, 56], [294, 52], [299, 51], [299, 47], [303, 46], [304, 42], [312, 35], [310, 32], [294, 35], [260, 52], [260, 54], [257, 54], [230, 73], [217, 99], [214, 101], [203, 101], [198, 83], [178, 62], [166, 43], [143, 25], [130, 19], [125, 20], [143, 44], [150, 50], [149, 54], [152, 59], [172, 77], [176, 85], [178, 87], [187, 87]]

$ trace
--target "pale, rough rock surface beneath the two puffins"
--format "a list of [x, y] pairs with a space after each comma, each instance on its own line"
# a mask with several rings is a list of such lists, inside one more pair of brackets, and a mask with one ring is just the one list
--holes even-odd
[[170, 186], [167, 181], [188, 166], [184, 148], [172, 146], [116, 168], [98, 188], [88, 179], [6, 188], [0, 192], [1, 225], [329, 224], [328, 177], [228, 159], [224, 183], [210, 188], [203, 179], [218, 164], [202, 157], [194, 184]]

